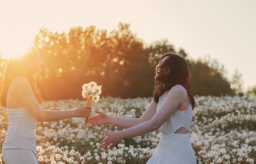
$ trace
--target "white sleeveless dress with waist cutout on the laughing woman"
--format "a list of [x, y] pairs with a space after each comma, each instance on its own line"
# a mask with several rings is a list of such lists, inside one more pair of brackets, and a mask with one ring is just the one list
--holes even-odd
[[[159, 97], [157, 110], [166, 98], [166, 93]], [[176, 109], [174, 114], [159, 128], [162, 137], [159, 140], [155, 153], [146, 164], [196, 164], [190, 133], [175, 133], [180, 127], [190, 131], [192, 121], [192, 105], [186, 111]]]

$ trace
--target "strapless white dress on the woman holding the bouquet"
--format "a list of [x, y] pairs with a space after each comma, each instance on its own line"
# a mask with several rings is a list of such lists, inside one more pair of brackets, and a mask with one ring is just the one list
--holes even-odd
[[9, 125], [2, 147], [5, 164], [38, 164], [36, 120], [26, 108], [7, 108]]

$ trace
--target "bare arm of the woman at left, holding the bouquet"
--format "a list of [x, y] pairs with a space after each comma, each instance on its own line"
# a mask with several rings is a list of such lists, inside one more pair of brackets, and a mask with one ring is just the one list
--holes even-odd
[[14, 89], [28, 112], [38, 122], [56, 121], [70, 117], [90, 117], [91, 107], [89, 106], [64, 111], [41, 110], [30, 83], [25, 77], [18, 77], [14, 79], [13, 87], [15, 87]]

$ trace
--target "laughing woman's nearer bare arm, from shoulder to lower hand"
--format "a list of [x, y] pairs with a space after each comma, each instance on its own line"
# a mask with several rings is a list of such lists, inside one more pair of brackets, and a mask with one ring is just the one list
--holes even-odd
[[142, 136], [155, 131], [175, 112], [182, 101], [187, 99], [186, 90], [181, 86], [174, 86], [166, 96], [166, 99], [155, 116], [148, 121], [142, 122], [134, 127], [122, 131], [112, 131], [106, 133], [107, 137], [101, 142], [101, 146], [112, 146], [123, 138]]

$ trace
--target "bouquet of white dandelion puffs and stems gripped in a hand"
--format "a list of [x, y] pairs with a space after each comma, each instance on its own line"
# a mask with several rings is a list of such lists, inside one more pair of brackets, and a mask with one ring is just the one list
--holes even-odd
[[[101, 85], [97, 85], [94, 81], [90, 83], [83, 84], [82, 86], [82, 96], [85, 98], [86, 105], [91, 106], [94, 102], [99, 101], [99, 95], [101, 94]], [[84, 127], [86, 133], [86, 125], [88, 123], [88, 117], [85, 117]]]

